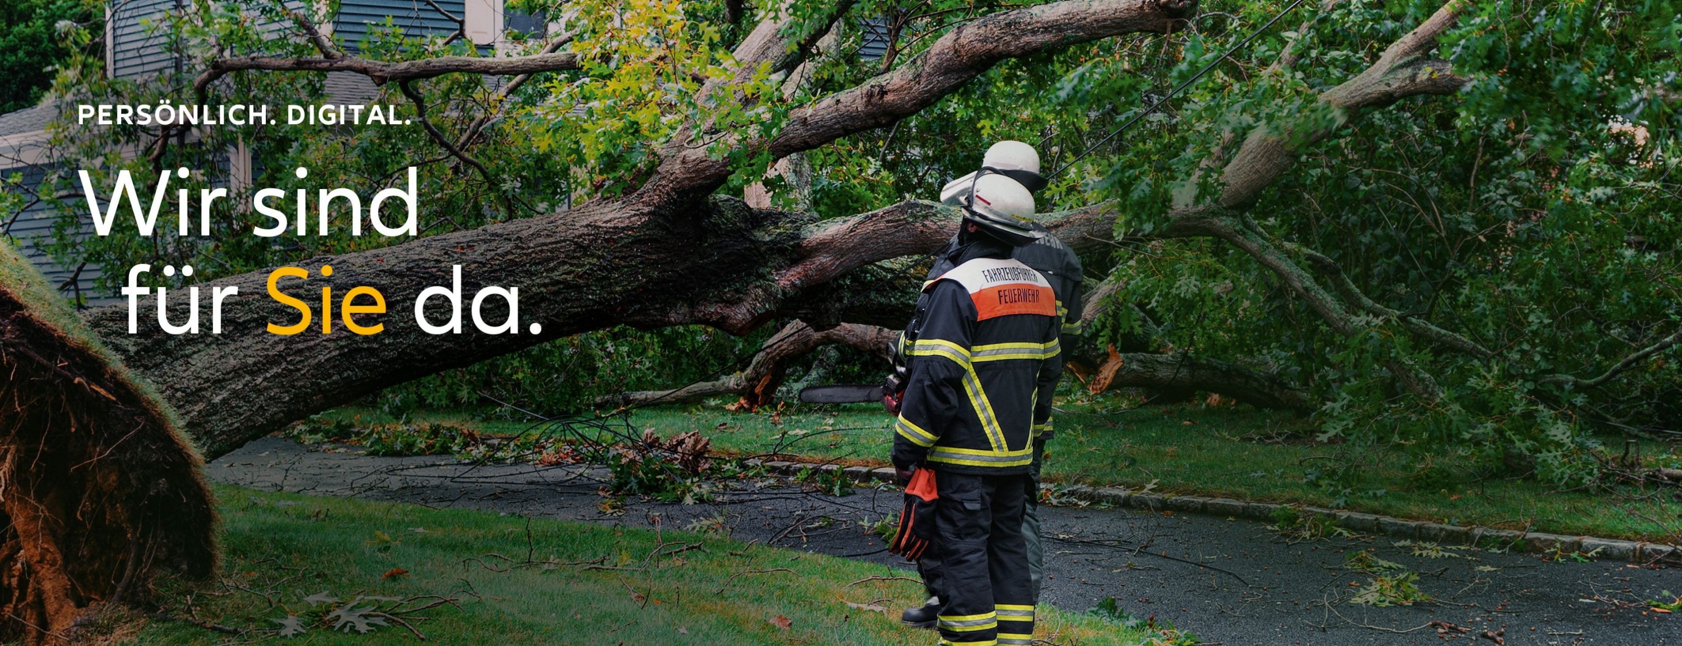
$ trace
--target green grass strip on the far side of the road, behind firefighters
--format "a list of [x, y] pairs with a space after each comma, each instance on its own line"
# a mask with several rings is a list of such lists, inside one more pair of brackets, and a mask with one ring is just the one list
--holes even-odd
[[[1060, 400], [1058, 409], [1058, 436], [1046, 461], [1051, 483], [1154, 484], [1157, 493], [1632, 540], [1669, 542], [1672, 532], [1682, 530], [1677, 522], [1682, 505], [1674, 500], [1626, 503], [1610, 495], [1554, 491], [1534, 479], [1477, 478], [1465, 459], [1425, 458], [1404, 446], [1349, 456], [1342, 444], [1315, 442], [1309, 422], [1283, 412], [1181, 404], [1105, 414], [1070, 400]], [[377, 417], [365, 410], [336, 414]], [[893, 441], [891, 419], [876, 404], [754, 414], [720, 405], [668, 405], [637, 410], [631, 422], [664, 437], [700, 429], [715, 451], [738, 456], [777, 453], [868, 466], [886, 466]], [[484, 431], [525, 429], [500, 424]], [[1648, 447], [1648, 454], [1655, 451]], [[1349, 469], [1354, 486], [1325, 484], [1334, 469]]]

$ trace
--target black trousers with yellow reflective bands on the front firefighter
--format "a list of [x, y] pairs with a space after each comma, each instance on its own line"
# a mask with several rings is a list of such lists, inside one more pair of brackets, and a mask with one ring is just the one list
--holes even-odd
[[944, 607], [942, 644], [1028, 646], [1034, 639], [1023, 506], [1031, 474], [976, 476], [939, 471], [935, 552]]

